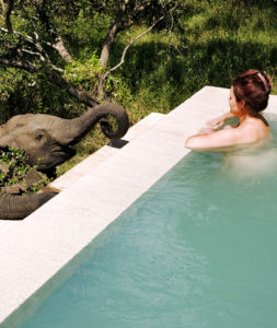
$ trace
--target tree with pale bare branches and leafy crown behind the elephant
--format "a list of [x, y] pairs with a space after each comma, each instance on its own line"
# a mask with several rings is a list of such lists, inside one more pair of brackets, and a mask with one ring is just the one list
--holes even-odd
[[[172, 21], [172, 10], [175, 7], [171, 0], [0, 0], [0, 66], [30, 73], [42, 72], [48, 81], [86, 106], [94, 106], [104, 97], [107, 77], [125, 62], [126, 51], [131, 44], [151, 31], [158, 22], [165, 19]], [[64, 77], [65, 67], [76, 58], [69, 50], [65, 26], [59, 21], [64, 17], [64, 22], [69, 24], [81, 11], [92, 20], [95, 14], [102, 14], [111, 21], [102, 50], [99, 51], [101, 70], [93, 94], [73, 85]], [[108, 68], [116, 35], [134, 24], [146, 25], [146, 31], [131, 39], [126, 45], [120, 61]]]

